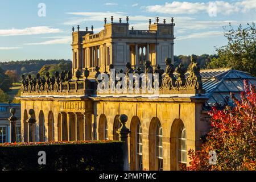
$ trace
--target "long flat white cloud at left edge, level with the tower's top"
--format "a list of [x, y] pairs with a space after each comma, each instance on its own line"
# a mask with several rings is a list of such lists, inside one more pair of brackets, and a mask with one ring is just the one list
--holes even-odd
[[59, 33], [59, 28], [50, 28], [45, 26], [29, 27], [23, 29], [0, 29], [0, 36], [16, 36], [16, 35], [38, 35], [38, 34], [55, 34]]

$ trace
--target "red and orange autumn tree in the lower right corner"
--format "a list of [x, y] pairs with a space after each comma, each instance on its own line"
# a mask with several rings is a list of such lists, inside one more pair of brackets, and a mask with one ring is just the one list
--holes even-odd
[[[236, 104], [233, 108], [209, 111], [212, 129], [201, 150], [189, 150], [191, 166], [187, 170], [256, 170], [256, 92], [247, 81], [244, 88], [241, 100], [230, 94]], [[213, 159], [210, 151], [216, 152], [216, 164], [209, 163]]]

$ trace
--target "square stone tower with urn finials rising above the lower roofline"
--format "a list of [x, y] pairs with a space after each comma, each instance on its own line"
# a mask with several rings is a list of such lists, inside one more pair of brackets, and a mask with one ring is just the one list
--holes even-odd
[[150, 60], [153, 67], [159, 64], [165, 66], [164, 59], [171, 57], [174, 60], [174, 18], [171, 23], [163, 20], [159, 23], [156, 18], [155, 23], [148, 22], [148, 30], [129, 29], [129, 16], [125, 21], [107, 23], [105, 18], [104, 29], [98, 34], [94, 34], [93, 26], [91, 30], [86, 27], [85, 31], [73, 27], [72, 47], [73, 47], [73, 73], [77, 69], [82, 71], [88, 68], [90, 76], [96, 73], [95, 68], [100, 67], [100, 72], [108, 70], [108, 66], [113, 64], [116, 69], [125, 69], [125, 64], [130, 62], [132, 67], [143, 67], [146, 60]]

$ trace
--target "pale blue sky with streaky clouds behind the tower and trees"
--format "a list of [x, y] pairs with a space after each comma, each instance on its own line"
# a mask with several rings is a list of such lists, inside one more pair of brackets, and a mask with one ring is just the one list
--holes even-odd
[[[38, 16], [39, 3], [46, 16]], [[167, 23], [174, 17], [175, 55], [215, 53], [224, 46], [222, 26], [255, 22], [256, 0], [234, 1], [86, 1], [0, 0], [0, 61], [71, 59], [71, 27], [94, 26], [100, 31], [104, 18], [130, 16], [130, 26], [147, 29], [148, 18]]]

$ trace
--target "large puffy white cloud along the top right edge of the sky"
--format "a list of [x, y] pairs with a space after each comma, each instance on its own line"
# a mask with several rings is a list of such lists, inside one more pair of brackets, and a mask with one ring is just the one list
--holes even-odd
[[164, 5], [146, 6], [144, 9], [151, 13], [164, 14], [198, 14], [208, 13], [209, 5], [215, 3], [217, 14], [229, 15], [232, 13], [243, 13], [247, 10], [256, 10], [256, 0], [243, 0], [239, 2], [209, 1], [209, 2], [166, 2]]

